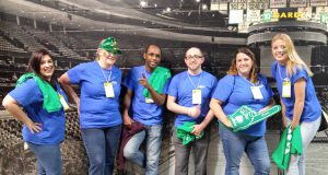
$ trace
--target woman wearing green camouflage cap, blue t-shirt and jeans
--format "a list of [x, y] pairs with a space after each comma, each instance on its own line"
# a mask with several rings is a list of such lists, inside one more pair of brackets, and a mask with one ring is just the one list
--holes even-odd
[[[121, 132], [119, 94], [121, 71], [115, 66], [118, 49], [114, 37], [101, 42], [95, 61], [80, 63], [60, 77], [78, 105], [89, 174], [113, 174]], [[71, 84], [81, 88], [78, 97]], [[80, 101], [81, 98], [81, 101]]]

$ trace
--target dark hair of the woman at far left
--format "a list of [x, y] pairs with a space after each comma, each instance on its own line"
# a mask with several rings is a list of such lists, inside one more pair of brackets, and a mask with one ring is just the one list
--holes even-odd
[[[49, 51], [47, 51], [44, 48], [33, 51], [31, 55], [31, 58], [28, 60], [26, 72], [33, 72], [33, 73], [37, 74], [39, 78], [43, 78], [40, 74], [39, 67], [40, 67], [40, 61], [44, 56], [51, 57]], [[52, 78], [51, 78], [51, 80], [52, 80]]]

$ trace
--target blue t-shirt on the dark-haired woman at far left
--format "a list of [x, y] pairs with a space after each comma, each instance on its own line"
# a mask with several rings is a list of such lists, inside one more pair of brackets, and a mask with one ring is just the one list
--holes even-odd
[[[67, 101], [60, 85], [56, 83], [57, 92]], [[24, 141], [35, 144], [57, 144], [65, 139], [65, 112], [48, 113], [43, 108], [44, 95], [34, 79], [26, 80], [23, 84], [12, 90], [9, 95], [23, 107], [26, 115], [34, 122], [39, 122], [42, 131], [32, 133], [26, 125], [23, 126]]]

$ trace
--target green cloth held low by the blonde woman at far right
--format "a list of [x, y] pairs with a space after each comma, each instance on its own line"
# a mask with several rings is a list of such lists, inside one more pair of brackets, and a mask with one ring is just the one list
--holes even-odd
[[291, 154], [302, 155], [302, 136], [300, 125], [292, 131], [289, 126], [278, 144], [278, 148], [272, 153], [272, 160], [281, 170], [288, 170]]

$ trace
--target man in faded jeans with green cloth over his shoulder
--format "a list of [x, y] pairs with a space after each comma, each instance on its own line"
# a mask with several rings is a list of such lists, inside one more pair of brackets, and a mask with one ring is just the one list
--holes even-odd
[[[159, 46], [149, 45], [143, 58], [144, 66], [132, 68], [124, 81], [124, 85], [128, 89], [124, 102], [124, 124], [130, 128], [132, 122], [139, 121], [144, 126], [144, 130], [136, 133], [127, 142], [124, 156], [145, 167], [147, 175], [156, 175], [162, 143], [162, 105], [165, 103], [171, 73], [167, 69], [159, 67], [161, 62]], [[157, 71], [159, 69], [164, 72]], [[167, 79], [162, 79], [163, 77]], [[159, 85], [161, 83], [159, 80], [163, 80], [163, 85]], [[139, 151], [143, 140], [145, 140], [145, 154]]]

